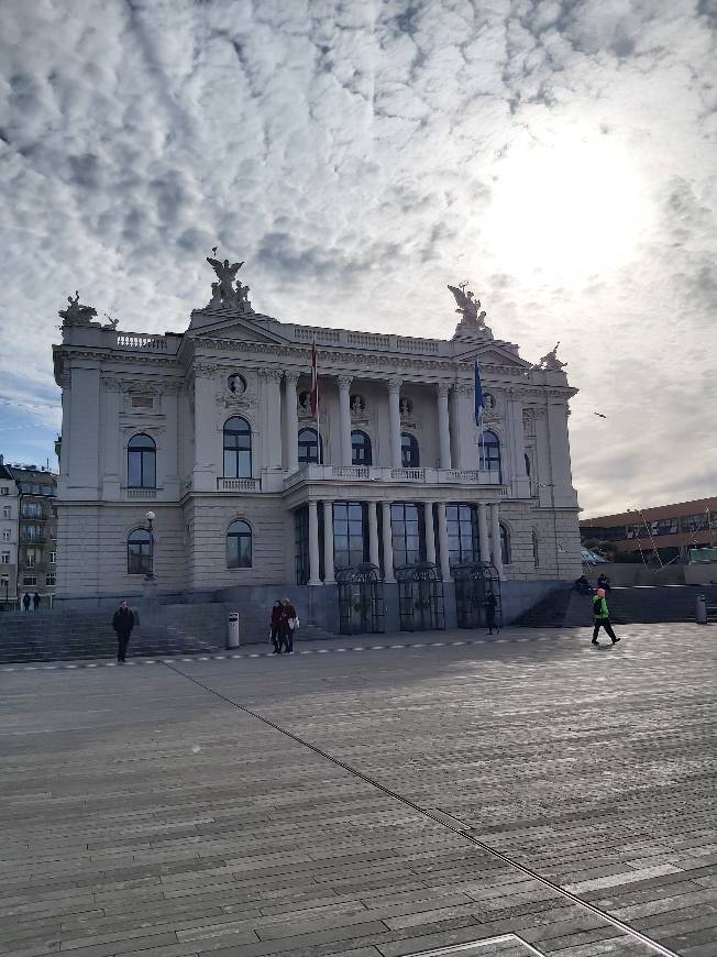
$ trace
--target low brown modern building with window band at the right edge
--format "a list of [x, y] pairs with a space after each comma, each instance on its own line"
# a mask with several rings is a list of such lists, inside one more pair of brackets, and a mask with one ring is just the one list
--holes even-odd
[[662, 562], [687, 561], [692, 549], [717, 543], [717, 497], [586, 518], [580, 530], [582, 541], [611, 541], [636, 561], [655, 551]]

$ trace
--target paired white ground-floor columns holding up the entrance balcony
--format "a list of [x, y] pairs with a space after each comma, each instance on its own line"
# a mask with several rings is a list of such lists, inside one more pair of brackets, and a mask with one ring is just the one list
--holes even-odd
[[[339, 499], [337, 499], [339, 501]], [[378, 542], [378, 507], [382, 509], [382, 551], [384, 556], [384, 582], [387, 584], [396, 581], [394, 571], [394, 541], [390, 518], [390, 502], [367, 502], [368, 510], [368, 560], [374, 565], [379, 565]], [[321, 581], [319, 573], [319, 507], [323, 508], [323, 572]], [[450, 552], [448, 520], [445, 515], [445, 502], [423, 502], [424, 510], [424, 549], [426, 561], [440, 564], [441, 576], [444, 582], [450, 581]], [[309, 581], [310, 585], [331, 584], [334, 581], [333, 563], [333, 499], [309, 499]], [[438, 542], [433, 528], [433, 509], [438, 517]], [[503, 578], [503, 556], [500, 551], [500, 520], [497, 503], [477, 504], [478, 509], [478, 542], [482, 560], [489, 556], [498, 574]], [[489, 516], [488, 516], [489, 510]], [[490, 538], [488, 538], [488, 521]], [[490, 547], [489, 547], [490, 546]]]

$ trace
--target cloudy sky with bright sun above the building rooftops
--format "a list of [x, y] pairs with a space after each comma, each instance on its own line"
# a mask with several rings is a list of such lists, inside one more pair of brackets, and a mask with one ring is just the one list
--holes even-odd
[[[75, 288], [181, 330], [561, 342], [586, 515], [716, 491], [717, 0], [5, 0], [0, 451], [53, 464]], [[598, 410], [607, 416], [593, 415]]]

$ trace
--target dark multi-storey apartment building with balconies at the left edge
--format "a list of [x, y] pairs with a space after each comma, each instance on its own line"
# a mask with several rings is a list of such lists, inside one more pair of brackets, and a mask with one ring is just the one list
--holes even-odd
[[19, 502], [18, 597], [35, 592], [52, 604], [57, 575], [57, 476], [36, 465], [11, 465]]

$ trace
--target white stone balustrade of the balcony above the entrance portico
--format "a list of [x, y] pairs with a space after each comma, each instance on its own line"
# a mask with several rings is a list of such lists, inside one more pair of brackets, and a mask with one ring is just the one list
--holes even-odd
[[[220, 480], [221, 481], [221, 480]], [[289, 475], [284, 487], [290, 488], [299, 482], [409, 482], [427, 485], [485, 485], [500, 488], [505, 497], [509, 494], [501, 484], [499, 472], [483, 472], [467, 469], [391, 469], [386, 465], [302, 465]]]

